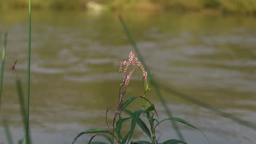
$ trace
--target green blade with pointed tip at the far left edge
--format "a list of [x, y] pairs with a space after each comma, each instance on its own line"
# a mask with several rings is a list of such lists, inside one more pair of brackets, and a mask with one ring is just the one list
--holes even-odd
[[1, 82], [1, 86], [0, 86], [0, 107], [1, 107], [1, 101], [2, 101], [4, 59], [5, 59], [6, 45], [7, 45], [7, 32], [4, 34], [4, 45], [3, 45], [2, 62], [1, 62], [1, 76], [0, 76], [0, 82]]

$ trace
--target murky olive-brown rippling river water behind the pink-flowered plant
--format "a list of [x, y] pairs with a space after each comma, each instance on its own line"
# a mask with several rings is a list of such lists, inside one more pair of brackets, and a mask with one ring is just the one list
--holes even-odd
[[[26, 95], [27, 11], [1, 11], [0, 16], [1, 47], [8, 32], [0, 117], [8, 119], [16, 143], [24, 137], [15, 79], [21, 79]], [[123, 17], [156, 82], [256, 124], [255, 17], [198, 13]], [[71, 143], [83, 130], [106, 128], [106, 107], [118, 102], [119, 61], [127, 61], [133, 50], [117, 14], [32, 11], [31, 43], [33, 143]], [[10, 70], [15, 59], [17, 75]], [[135, 73], [126, 99], [142, 93], [140, 75]], [[255, 142], [255, 130], [174, 93], [161, 93], [174, 117], [195, 125], [212, 143]], [[154, 88], [148, 97], [160, 118], [167, 118]], [[130, 108], [140, 106], [137, 100]], [[199, 131], [178, 125], [188, 143], [207, 143]], [[160, 126], [156, 130], [160, 141], [178, 139], [170, 122]], [[135, 140], [145, 137], [136, 129]], [[77, 143], [88, 139], [84, 135]], [[0, 143], [7, 143], [2, 122]]]

